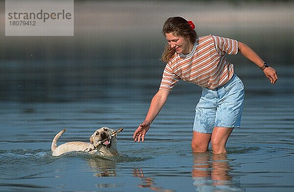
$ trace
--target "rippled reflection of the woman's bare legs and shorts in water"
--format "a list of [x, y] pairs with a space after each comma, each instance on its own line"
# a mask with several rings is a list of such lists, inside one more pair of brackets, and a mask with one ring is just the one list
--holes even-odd
[[195, 153], [192, 170], [196, 192], [242, 192], [233, 184], [232, 171], [225, 153]]

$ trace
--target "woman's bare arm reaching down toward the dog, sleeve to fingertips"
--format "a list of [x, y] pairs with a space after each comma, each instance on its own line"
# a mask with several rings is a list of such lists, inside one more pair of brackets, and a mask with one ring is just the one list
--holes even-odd
[[142, 142], [145, 139], [145, 135], [150, 128], [150, 124], [154, 121], [161, 108], [164, 106], [165, 102], [168, 99], [170, 91], [159, 89], [158, 92], [154, 95], [148, 113], [146, 115], [145, 121], [139, 125], [139, 127], [135, 130], [133, 139], [134, 141]]

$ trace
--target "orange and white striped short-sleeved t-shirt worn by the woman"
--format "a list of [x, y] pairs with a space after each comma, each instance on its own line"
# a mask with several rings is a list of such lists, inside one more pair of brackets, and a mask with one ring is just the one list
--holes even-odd
[[210, 89], [224, 85], [234, 74], [233, 64], [224, 54], [237, 53], [236, 40], [213, 35], [199, 37], [190, 54], [174, 54], [164, 69], [159, 89], [172, 91], [179, 80]]

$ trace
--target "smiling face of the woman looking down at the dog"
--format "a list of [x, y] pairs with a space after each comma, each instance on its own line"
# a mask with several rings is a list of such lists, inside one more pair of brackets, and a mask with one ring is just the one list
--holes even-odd
[[166, 33], [165, 36], [169, 45], [175, 49], [177, 54], [188, 55], [193, 50], [194, 44], [190, 43], [188, 39], [175, 36], [172, 33]]

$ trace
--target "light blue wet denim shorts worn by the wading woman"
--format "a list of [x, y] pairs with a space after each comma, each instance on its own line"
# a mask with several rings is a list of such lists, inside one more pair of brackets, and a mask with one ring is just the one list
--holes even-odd
[[214, 127], [239, 128], [243, 103], [244, 85], [235, 74], [228, 83], [216, 89], [202, 87], [193, 130], [212, 133]]

